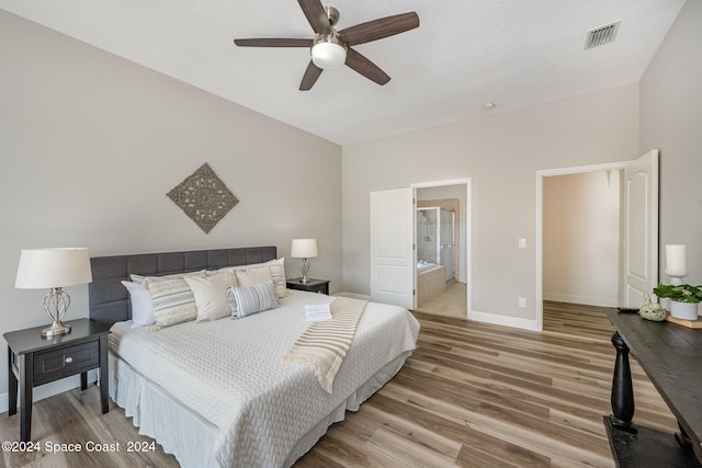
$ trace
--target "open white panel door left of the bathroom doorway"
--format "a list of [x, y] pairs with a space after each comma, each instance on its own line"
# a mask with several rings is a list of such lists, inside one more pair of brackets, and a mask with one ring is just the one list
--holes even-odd
[[371, 192], [371, 300], [415, 308], [415, 189]]

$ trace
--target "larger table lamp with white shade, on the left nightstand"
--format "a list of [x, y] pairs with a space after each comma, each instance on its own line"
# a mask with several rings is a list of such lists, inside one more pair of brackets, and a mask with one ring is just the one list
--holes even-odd
[[70, 306], [70, 296], [63, 288], [91, 281], [88, 249], [26, 249], [20, 255], [14, 287], [50, 289], [43, 306], [52, 324], [42, 330], [42, 336], [52, 338], [70, 332], [70, 326], [61, 323]]

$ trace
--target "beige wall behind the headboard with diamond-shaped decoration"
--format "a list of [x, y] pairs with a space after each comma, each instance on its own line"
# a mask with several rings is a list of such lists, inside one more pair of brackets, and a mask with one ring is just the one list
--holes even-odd
[[[341, 290], [338, 145], [3, 11], [0, 62], [0, 333], [47, 321], [46, 292], [14, 288], [23, 248], [288, 255], [294, 237], [313, 237], [313, 275]], [[166, 196], [204, 162], [240, 201], [207, 235]], [[87, 317], [87, 287], [67, 292], [68, 318]]]

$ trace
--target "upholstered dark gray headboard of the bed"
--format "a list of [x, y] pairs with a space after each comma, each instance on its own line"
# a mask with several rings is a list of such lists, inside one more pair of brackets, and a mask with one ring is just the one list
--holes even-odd
[[245, 247], [92, 258], [92, 283], [88, 286], [90, 318], [112, 327], [132, 317], [129, 296], [121, 283], [129, 281], [132, 274], [157, 276], [250, 265], [273, 260], [276, 253], [275, 247]]

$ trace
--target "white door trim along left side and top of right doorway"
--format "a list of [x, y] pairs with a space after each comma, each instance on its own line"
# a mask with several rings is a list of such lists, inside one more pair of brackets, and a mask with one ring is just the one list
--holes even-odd
[[536, 313], [536, 331], [543, 331], [544, 328], [544, 265], [543, 265], [543, 222], [544, 222], [544, 178], [551, 175], [568, 175], [581, 174], [586, 172], [599, 171], [619, 171], [624, 170], [631, 161], [608, 162], [604, 164], [576, 165], [574, 168], [546, 169], [536, 171], [536, 242], [534, 253], [536, 255], [536, 294], [534, 295], [536, 304], [534, 310]]

